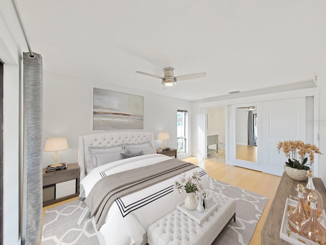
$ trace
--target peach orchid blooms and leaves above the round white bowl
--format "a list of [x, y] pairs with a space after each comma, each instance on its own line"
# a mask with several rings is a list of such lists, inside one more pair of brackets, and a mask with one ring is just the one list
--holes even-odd
[[[310, 167], [307, 165], [312, 165], [314, 162], [314, 153], [321, 154], [316, 145], [314, 144], [305, 144], [301, 140], [289, 140], [284, 142], [279, 142], [277, 145], [278, 153], [280, 154], [281, 149], [285, 153], [285, 156], [289, 159], [288, 162], [286, 162], [286, 166], [296, 168], [296, 169], [305, 169], [308, 170]], [[306, 154], [309, 155], [310, 164], [307, 164], [308, 158], [306, 157]], [[297, 159], [297, 156], [299, 159]]]

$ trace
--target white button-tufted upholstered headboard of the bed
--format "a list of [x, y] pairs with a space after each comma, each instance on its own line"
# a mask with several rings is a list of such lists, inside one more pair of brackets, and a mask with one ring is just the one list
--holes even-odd
[[86, 175], [86, 169], [91, 166], [89, 146], [113, 146], [123, 143], [141, 143], [149, 141], [155, 151], [154, 134], [149, 132], [106, 132], [89, 134], [78, 137], [78, 165], [80, 167], [80, 180]]

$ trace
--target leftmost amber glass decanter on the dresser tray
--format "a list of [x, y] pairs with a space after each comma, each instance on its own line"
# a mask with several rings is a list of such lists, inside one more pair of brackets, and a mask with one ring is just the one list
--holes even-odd
[[[297, 184], [297, 188], [295, 189], [297, 191], [297, 205], [294, 210], [289, 210], [287, 213], [288, 217], [288, 226], [291, 231], [300, 234], [300, 225], [303, 220], [307, 219], [309, 215], [307, 215], [306, 210], [304, 209], [304, 203], [305, 203], [305, 188], [302, 184]], [[307, 201], [306, 201], [307, 202]], [[292, 228], [292, 229], [291, 229]]]

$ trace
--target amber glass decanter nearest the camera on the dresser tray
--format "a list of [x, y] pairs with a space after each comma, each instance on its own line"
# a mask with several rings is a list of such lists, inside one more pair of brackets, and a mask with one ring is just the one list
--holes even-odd
[[326, 229], [318, 222], [317, 217], [317, 201], [318, 197], [315, 193], [309, 193], [310, 200], [310, 217], [301, 223], [301, 232], [304, 236], [318, 244], [326, 244]]

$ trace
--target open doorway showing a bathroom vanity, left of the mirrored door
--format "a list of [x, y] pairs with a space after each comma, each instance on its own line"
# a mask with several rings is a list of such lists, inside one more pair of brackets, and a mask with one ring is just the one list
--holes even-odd
[[226, 162], [226, 107], [206, 109], [207, 159]]

